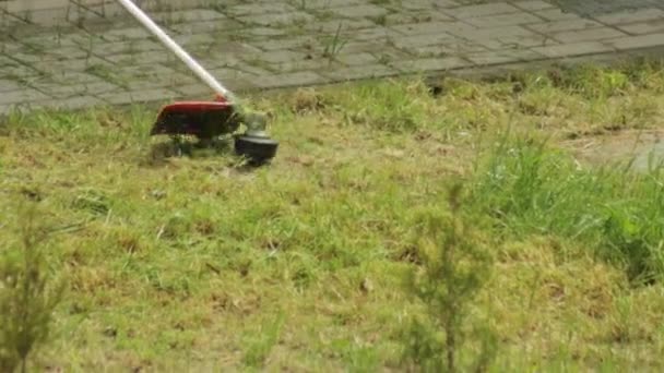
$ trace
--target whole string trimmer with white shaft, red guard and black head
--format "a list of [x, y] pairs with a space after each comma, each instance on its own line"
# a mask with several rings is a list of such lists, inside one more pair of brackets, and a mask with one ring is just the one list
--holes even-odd
[[278, 143], [265, 132], [265, 117], [247, 111], [233, 92], [203, 69], [131, 0], [118, 2], [216, 94], [214, 101], [181, 101], [164, 107], [151, 135], [193, 135], [209, 142], [222, 134], [234, 133], [245, 124], [247, 131], [235, 136], [236, 153], [258, 164], [273, 158]]

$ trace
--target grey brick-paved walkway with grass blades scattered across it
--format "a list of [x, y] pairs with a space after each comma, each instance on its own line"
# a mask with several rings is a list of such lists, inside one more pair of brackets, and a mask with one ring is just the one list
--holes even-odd
[[[236, 91], [664, 46], [664, 0], [229, 1], [155, 16]], [[130, 16], [14, 26], [0, 43], [0, 112], [211, 97]]]

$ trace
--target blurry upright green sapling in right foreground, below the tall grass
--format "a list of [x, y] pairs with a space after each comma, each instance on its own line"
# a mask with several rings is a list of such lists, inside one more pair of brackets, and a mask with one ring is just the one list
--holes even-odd
[[[461, 193], [460, 184], [450, 189], [449, 216], [439, 209], [426, 210], [417, 222], [423, 264], [411, 273], [406, 291], [425, 304], [426, 316], [415, 318], [403, 338], [405, 361], [425, 372], [469, 371], [459, 361], [467, 344], [469, 309], [491, 267], [490, 253], [463, 217]], [[474, 371], [485, 371], [495, 354], [493, 337], [486, 332], [484, 341], [472, 363]]]

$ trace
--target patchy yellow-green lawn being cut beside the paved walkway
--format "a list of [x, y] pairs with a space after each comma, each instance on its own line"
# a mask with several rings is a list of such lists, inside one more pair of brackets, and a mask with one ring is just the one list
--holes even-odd
[[[38, 201], [54, 227], [45, 260], [68, 277], [34, 364], [403, 370], [404, 330], [436, 317], [404, 284], [447, 237], [423, 230], [423, 214], [450, 213], [461, 183], [473, 228], [461, 246], [493, 260], [459, 330], [497, 338], [488, 371], [660, 371], [660, 168], [580, 154], [661, 129], [662, 71], [257, 96], [282, 148], [252, 170], [224, 152], [165, 157], [149, 107], [13, 113], [0, 125], [0, 242], [15, 239], [15, 201]], [[477, 333], [454, 344], [458, 366], [482, 350]]]

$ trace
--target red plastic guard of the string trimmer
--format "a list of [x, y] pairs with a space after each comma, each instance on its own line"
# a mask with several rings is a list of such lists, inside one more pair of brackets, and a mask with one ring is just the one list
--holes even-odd
[[213, 139], [236, 131], [239, 121], [232, 104], [225, 101], [182, 101], [165, 106], [151, 135], [193, 135]]

